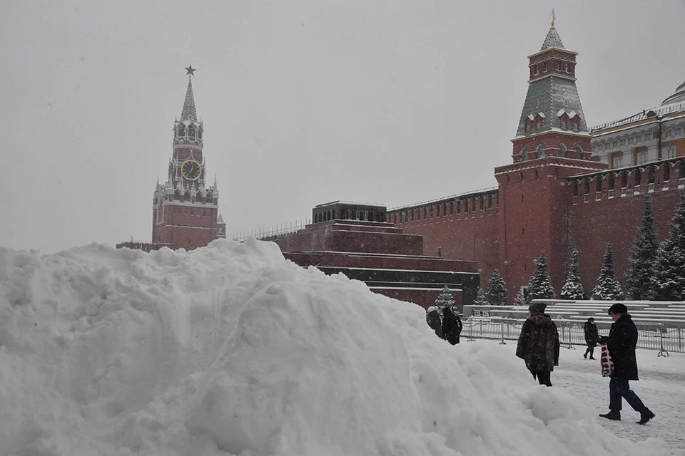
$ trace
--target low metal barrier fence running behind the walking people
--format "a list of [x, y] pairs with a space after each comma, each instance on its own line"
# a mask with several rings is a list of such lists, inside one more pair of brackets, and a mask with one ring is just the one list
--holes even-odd
[[[585, 346], [585, 332], [577, 323], [557, 323], [559, 341], [563, 348], [574, 349], [574, 345]], [[523, 321], [492, 321], [489, 318], [470, 317], [464, 321], [462, 335], [467, 341], [476, 338], [499, 340], [500, 345], [505, 341], [517, 341]], [[597, 325], [599, 333], [607, 336], [608, 325]], [[656, 356], [669, 356], [669, 351], [685, 353], [685, 329], [669, 328], [663, 324], [635, 323], [638, 331], [637, 348], [658, 350]]]

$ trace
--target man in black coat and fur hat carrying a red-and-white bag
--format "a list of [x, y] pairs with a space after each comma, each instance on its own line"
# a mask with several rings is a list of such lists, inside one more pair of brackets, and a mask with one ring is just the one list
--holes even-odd
[[607, 343], [609, 355], [614, 362], [614, 373], [609, 380], [609, 413], [604, 413], [602, 418], [609, 420], [621, 420], [622, 400], [640, 413], [640, 425], [646, 424], [654, 418], [654, 413], [646, 408], [639, 397], [630, 389], [628, 380], [639, 380], [637, 378], [637, 361], [635, 357], [635, 347], [637, 345], [637, 328], [628, 314], [625, 304], [616, 303], [609, 308], [609, 315], [612, 316], [614, 323], [609, 330], [608, 337], [600, 337], [601, 342]]

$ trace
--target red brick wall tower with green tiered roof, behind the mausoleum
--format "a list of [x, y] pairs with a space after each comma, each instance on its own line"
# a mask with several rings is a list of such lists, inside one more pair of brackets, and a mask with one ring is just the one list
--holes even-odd
[[514, 164], [495, 168], [502, 214], [499, 264], [512, 296], [543, 249], [552, 285], [561, 289], [569, 249], [566, 178], [607, 167], [590, 160], [576, 56], [564, 48], [552, 21], [542, 48], [528, 57], [528, 93], [512, 140]]

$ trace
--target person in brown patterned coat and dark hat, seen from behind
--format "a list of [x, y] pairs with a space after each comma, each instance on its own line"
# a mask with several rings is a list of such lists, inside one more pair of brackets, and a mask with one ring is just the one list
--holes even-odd
[[559, 331], [552, 317], [544, 314], [547, 305], [534, 302], [528, 307], [529, 316], [523, 323], [516, 346], [516, 356], [537, 377], [540, 385], [552, 386], [552, 371], [559, 366]]

